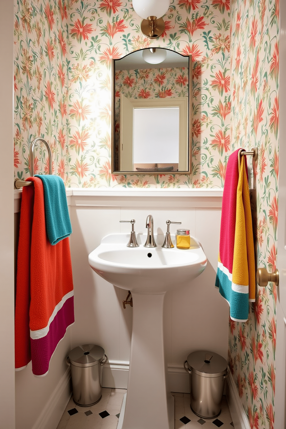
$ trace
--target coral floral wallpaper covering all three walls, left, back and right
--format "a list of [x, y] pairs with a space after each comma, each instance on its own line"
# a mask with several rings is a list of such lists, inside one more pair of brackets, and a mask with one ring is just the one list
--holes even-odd
[[[278, 0], [171, 0], [163, 36], [142, 35], [126, 0], [15, 2], [15, 176], [29, 145], [52, 148], [70, 187], [222, 187], [238, 147], [259, 148], [258, 264], [275, 267], [278, 192]], [[193, 57], [192, 174], [111, 175], [111, 59], [166, 47]], [[230, 79], [232, 76], [232, 79]], [[34, 161], [48, 171], [45, 148]], [[276, 289], [231, 323], [229, 364], [250, 427], [274, 426]]]

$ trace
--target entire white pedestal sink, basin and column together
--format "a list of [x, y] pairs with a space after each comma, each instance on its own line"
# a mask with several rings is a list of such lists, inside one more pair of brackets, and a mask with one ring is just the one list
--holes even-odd
[[[133, 299], [132, 337], [126, 403], [117, 429], [173, 429], [174, 399], [166, 383], [163, 302], [167, 290], [190, 284], [207, 264], [202, 247], [191, 237], [191, 248], [127, 248], [129, 235], [111, 234], [90, 253], [91, 268], [114, 286], [130, 290]], [[173, 237], [175, 241], [175, 238]]]

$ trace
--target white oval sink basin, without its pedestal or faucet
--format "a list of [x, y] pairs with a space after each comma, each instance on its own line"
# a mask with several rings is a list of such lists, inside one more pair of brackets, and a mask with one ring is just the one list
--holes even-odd
[[[138, 235], [138, 244], [146, 236]], [[175, 243], [175, 237], [172, 237]], [[201, 274], [207, 264], [202, 247], [191, 238], [191, 248], [165, 249], [164, 236], [155, 236], [156, 248], [128, 248], [129, 235], [111, 234], [90, 253], [88, 262], [102, 278], [131, 292], [160, 293], [184, 285]]]

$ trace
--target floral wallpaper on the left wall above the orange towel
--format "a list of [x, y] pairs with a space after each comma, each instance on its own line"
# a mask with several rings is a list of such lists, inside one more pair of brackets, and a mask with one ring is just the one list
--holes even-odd
[[[67, 0], [18, 0], [14, 24], [15, 177], [30, 176], [29, 147], [44, 138], [52, 171], [67, 181], [68, 11]], [[48, 173], [48, 154], [35, 148], [34, 171]]]

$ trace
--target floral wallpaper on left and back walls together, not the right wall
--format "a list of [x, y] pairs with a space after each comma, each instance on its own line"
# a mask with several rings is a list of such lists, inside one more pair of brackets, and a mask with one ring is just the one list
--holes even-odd
[[[48, 140], [70, 187], [221, 187], [230, 153], [229, 0], [171, 0], [150, 40], [130, 0], [15, 0], [15, 175]], [[166, 47], [193, 58], [191, 175], [111, 175], [111, 59]], [[45, 148], [35, 160], [47, 169]]]

